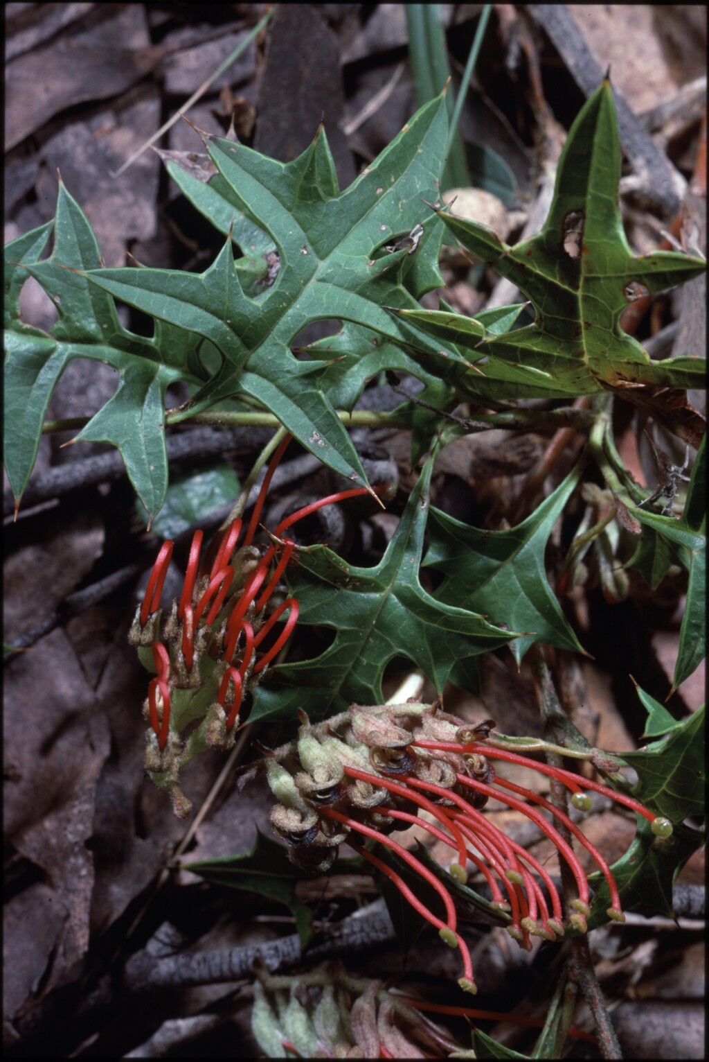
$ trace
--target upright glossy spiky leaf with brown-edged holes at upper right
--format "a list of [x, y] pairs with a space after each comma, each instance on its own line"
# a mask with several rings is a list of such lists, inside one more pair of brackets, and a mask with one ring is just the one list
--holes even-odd
[[[675, 252], [633, 255], [618, 203], [620, 175], [616, 108], [604, 81], [571, 126], [549, 217], [537, 236], [508, 246], [486, 225], [436, 211], [465, 247], [524, 292], [535, 311], [533, 324], [489, 339], [485, 378], [468, 372], [460, 381], [463, 393], [560, 398], [610, 389], [652, 404], [659, 388], [705, 386], [703, 359], [651, 361], [620, 327], [629, 302], [706, 268]], [[471, 360], [473, 354], [480, 358], [485, 332], [474, 319], [445, 310], [398, 313], [468, 350]]]

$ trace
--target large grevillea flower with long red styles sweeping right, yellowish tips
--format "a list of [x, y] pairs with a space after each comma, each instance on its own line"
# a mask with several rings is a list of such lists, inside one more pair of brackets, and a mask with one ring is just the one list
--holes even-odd
[[[605, 878], [610, 894], [608, 918], [622, 922], [624, 915], [608, 863], [576, 823], [547, 798], [497, 776], [490, 760], [517, 764], [555, 778], [571, 792], [571, 803], [578, 810], [590, 809], [586, 792], [590, 789], [643, 816], [658, 837], [672, 833], [669, 820], [632, 796], [537, 763], [509, 748], [515, 739], [491, 737], [494, 727], [491, 720], [466, 726], [442, 712], [438, 703], [352, 705], [318, 725], [310, 725], [302, 715], [297, 740], [266, 757], [269, 783], [280, 802], [272, 809], [271, 821], [276, 834], [289, 841], [292, 861], [319, 872], [329, 870], [339, 844], [346, 839], [438, 929], [445, 943], [460, 948], [463, 976], [459, 984], [472, 993], [477, 992], [472, 963], [457, 930], [453, 897], [436, 874], [390, 836], [393, 830], [417, 823], [448, 845], [453, 855], [449, 873], [461, 884], [467, 880], [469, 863], [480, 871], [489, 886], [491, 907], [502, 913], [507, 932], [525, 948], [531, 947], [532, 936], [553, 941], [567, 928], [587, 929], [588, 879], [559, 826], [589, 852]], [[577, 895], [567, 909], [542, 863], [483, 815], [489, 798], [520, 811], [552, 841], [575, 879]], [[419, 819], [419, 811], [427, 811], [433, 822]], [[369, 850], [368, 841], [394, 853], [435, 890], [439, 913], [418, 898], [391, 861]]]

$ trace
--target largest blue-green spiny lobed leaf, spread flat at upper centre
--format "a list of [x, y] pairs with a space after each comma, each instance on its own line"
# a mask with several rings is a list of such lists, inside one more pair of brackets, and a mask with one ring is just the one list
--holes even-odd
[[[154, 269], [86, 275], [104, 291], [197, 333], [220, 352], [221, 370], [189, 404], [185, 416], [234, 395], [248, 395], [331, 468], [366, 482], [313, 363], [297, 361], [291, 344], [313, 321], [333, 318], [393, 341], [411, 333], [382, 304], [416, 306], [408, 287], [420, 287], [421, 270], [433, 271], [440, 282], [437, 264], [428, 261], [431, 252], [423, 252], [423, 264], [413, 261], [410, 246], [394, 253], [382, 249], [418, 224], [426, 212], [421, 195], [435, 195], [446, 132], [440, 98], [421, 108], [344, 192], [323, 130], [288, 164], [230, 140], [206, 137], [220, 172], [219, 187], [226, 191], [228, 186], [235, 218], [238, 205], [277, 250], [278, 270], [271, 286], [256, 296], [244, 291], [231, 240], [201, 275]], [[201, 195], [204, 188], [200, 184]], [[223, 224], [225, 218], [221, 220]], [[437, 229], [437, 219], [429, 218], [426, 227]], [[438, 246], [439, 236], [432, 239], [431, 251], [437, 254]], [[436, 344], [428, 345], [436, 349]]]

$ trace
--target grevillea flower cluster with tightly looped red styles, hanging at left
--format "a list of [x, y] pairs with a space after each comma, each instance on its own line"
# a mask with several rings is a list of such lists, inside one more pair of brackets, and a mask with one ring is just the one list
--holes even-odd
[[[368, 493], [353, 487], [304, 507], [280, 521], [262, 553], [254, 538], [271, 479], [290, 440], [283, 439], [271, 460], [241, 543], [238, 518], [224, 531], [209, 564], [203, 558], [203, 532], [194, 532], [181, 594], [165, 622], [160, 598], [174, 544], [162, 544], [131, 628], [128, 640], [156, 674], [143, 705], [150, 723], [145, 767], [170, 793], [180, 818], [191, 807], [179, 788], [180, 768], [209, 747], [231, 748], [246, 692], [263, 678], [297, 622], [297, 600], [282, 600], [279, 589], [297, 548], [287, 534], [289, 528], [324, 506]], [[391, 487], [375, 490], [386, 494]], [[183, 732], [196, 720], [200, 724], [185, 738]]]

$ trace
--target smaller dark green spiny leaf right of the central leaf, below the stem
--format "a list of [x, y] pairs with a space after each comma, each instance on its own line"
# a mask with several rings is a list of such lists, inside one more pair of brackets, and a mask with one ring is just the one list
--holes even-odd
[[522, 631], [509, 645], [518, 662], [535, 641], [584, 651], [544, 568], [547, 542], [580, 476], [577, 465], [538, 509], [508, 531], [483, 531], [437, 509], [431, 511], [431, 545], [423, 564], [446, 576], [436, 600]]

